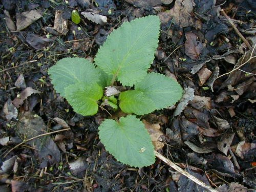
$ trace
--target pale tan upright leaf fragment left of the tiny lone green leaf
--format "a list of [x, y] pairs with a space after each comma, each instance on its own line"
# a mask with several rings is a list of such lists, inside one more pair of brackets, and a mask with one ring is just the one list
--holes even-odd
[[68, 20], [63, 18], [62, 11], [55, 12], [53, 29], [61, 35], [66, 35], [68, 33]]

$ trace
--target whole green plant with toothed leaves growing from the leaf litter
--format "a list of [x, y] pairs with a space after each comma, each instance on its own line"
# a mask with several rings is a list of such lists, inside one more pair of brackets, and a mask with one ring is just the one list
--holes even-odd
[[[95, 115], [102, 99], [102, 103], [112, 106], [112, 111], [119, 106], [128, 114], [104, 120], [99, 126], [99, 138], [118, 161], [136, 167], [155, 162], [150, 135], [136, 115], [166, 108], [182, 96], [182, 88], [175, 80], [147, 73], [158, 46], [159, 31], [157, 16], [126, 22], [99, 48], [95, 65], [83, 58], [64, 58], [49, 69], [56, 92], [67, 99], [75, 112]], [[127, 91], [119, 96], [103, 96], [103, 89], [115, 83]]]

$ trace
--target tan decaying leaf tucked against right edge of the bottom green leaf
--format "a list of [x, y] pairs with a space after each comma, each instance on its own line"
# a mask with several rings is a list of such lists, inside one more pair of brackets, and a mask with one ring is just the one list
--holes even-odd
[[163, 148], [164, 144], [161, 142], [162, 139], [160, 136], [164, 134], [163, 132], [160, 131], [160, 124], [159, 123], [151, 124], [144, 119], [142, 121], [145, 124], [145, 128], [147, 132], [150, 134], [155, 150], [157, 151]]

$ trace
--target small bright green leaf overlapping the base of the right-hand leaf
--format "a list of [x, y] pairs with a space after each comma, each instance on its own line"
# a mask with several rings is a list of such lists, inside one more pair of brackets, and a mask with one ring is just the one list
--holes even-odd
[[156, 105], [152, 99], [137, 90], [121, 92], [119, 101], [121, 110], [127, 114], [135, 113], [136, 115], [144, 115], [156, 109]]

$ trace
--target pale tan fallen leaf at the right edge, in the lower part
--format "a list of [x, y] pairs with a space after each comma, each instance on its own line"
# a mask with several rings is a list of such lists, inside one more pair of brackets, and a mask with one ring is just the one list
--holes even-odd
[[[256, 143], [247, 143], [245, 141], [240, 141], [236, 148], [236, 154], [241, 158], [245, 159], [247, 153], [251, 152], [252, 155], [255, 157], [256, 153]], [[246, 158], [248, 160], [253, 160]]]

